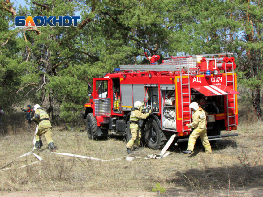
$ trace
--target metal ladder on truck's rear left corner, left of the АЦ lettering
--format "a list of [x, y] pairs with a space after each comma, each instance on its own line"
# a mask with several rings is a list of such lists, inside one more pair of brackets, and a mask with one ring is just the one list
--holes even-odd
[[[187, 78], [188, 82], [183, 83], [183, 78]], [[186, 126], [186, 122], [189, 122], [189, 124], [191, 123], [191, 109], [187, 107], [188, 111], [183, 111], [183, 104], [187, 104], [189, 106], [191, 103], [189, 66], [187, 67], [187, 74], [182, 74], [182, 66], [180, 65], [180, 79], [181, 79], [181, 101], [182, 101], [182, 131], [184, 132], [184, 131], [191, 131], [191, 128], [184, 129], [184, 126]], [[183, 92], [183, 86], [187, 87], [188, 92]], [[184, 98], [183, 101], [183, 95], [185, 94], [188, 94], [188, 98]]]

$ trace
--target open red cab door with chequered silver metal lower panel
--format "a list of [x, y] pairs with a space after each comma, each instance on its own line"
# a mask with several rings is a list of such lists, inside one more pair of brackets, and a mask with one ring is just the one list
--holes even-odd
[[93, 78], [94, 116], [111, 114], [109, 78]]

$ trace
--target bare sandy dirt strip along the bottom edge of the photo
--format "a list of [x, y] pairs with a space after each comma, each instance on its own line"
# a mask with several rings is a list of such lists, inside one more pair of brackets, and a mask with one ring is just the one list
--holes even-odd
[[175, 196], [175, 197], [261, 197], [263, 196], [263, 187], [259, 188], [235, 188], [230, 191], [220, 190], [186, 190], [183, 188], [177, 190], [168, 190], [167, 193], [159, 195], [158, 192], [144, 191], [16, 191], [1, 192], [0, 197], [157, 197], [157, 196]]

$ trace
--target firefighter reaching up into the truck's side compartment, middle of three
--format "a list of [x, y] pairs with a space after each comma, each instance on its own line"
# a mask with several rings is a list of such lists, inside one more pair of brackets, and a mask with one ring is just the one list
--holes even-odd
[[138, 128], [138, 123], [140, 119], [147, 118], [151, 113], [153, 113], [153, 110], [150, 109], [148, 113], [144, 114], [141, 111], [143, 110], [144, 102], [136, 101], [134, 103], [133, 108], [131, 108], [131, 116], [130, 116], [130, 130], [131, 130], [131, 139], [128, 141], [126, 147], [127, 147], [127, 153], [130, 154], [132, 146], [135, 149], [138, 149], [140, 145], [140, 138], [141, 138], [141, 132]]

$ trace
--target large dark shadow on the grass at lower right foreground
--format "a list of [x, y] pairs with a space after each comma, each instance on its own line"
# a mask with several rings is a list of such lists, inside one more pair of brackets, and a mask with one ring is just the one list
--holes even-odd
[[209, 167], [204, 164], [204, 169], [180, 170], [171, 174], [167, 183], [187, 188], [210, 190], [211, 188], [228, 188], [244, 186], [262, 186], [263, 166], [233, 165], [222, 167]]

